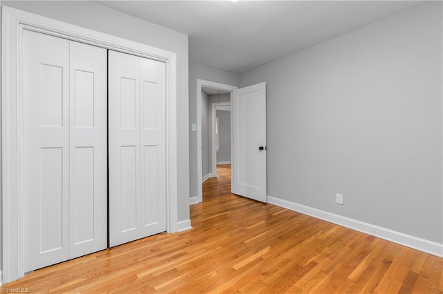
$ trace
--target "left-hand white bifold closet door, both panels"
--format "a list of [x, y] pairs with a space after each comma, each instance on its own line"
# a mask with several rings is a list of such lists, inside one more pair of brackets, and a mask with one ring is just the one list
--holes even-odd
[[106, 248], [106, 54], [24, 31], [25, 271]]

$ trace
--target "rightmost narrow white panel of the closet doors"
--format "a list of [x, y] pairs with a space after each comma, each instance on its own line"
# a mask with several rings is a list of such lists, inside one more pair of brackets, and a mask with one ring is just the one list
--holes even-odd
[[141, 235], [166, 231], [165, 63], [141, 58]]

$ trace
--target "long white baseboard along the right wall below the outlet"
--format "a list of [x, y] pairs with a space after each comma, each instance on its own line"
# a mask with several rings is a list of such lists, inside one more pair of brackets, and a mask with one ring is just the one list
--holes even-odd
[[346, 228], [352, 228], [355, 231], [366, 233], [375, 237], [379, 237], [381, 239], [386, 239], [390, 242], [414, 248], [419, 251], [436, 255], [438, 257], [443, 257], [443, 244], [437, 242], [415, 237], [413, 235], [400, 233], [397, 231], [392, 231], [389, 228], [383, 228], [381, 226], [375, 226], [374, 224], [360, 222], [356, 219], [350, 219], [349, 217], [343, 217], [341, 215], [336, 215], [334, 213], [328, 213], [323, 210], [311, 208], [309, 206], [297, 204], [294, 202], [289, 202], [287, 200], [271, 196], [268, 196], [268, 203], [283, 208], [288, 208], [290, 210], [297, 211], [298, 213], [302, 213], [304, 215], [310, 215], [311, 217], [323, 219], [327, 222], [332, 222], [340, 226], [345, 226]]

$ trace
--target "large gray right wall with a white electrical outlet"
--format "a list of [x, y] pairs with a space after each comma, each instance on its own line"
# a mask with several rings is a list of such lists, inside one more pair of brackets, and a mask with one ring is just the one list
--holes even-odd
[[266, 81], [268, 195], [442, 243], [442, 35], [425, 3], [242, 73]]

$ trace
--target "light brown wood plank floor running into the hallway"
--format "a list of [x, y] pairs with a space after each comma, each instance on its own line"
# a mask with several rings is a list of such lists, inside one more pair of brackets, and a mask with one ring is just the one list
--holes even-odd
[[26, 275], [30, 293], [442, 293], [443, 259], [204, 183], [192, 230]]

